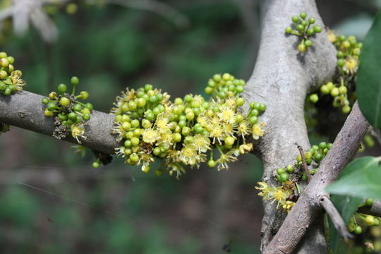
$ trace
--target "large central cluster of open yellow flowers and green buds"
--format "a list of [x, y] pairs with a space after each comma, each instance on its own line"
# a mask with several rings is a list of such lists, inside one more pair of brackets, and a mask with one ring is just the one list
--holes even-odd
[[[141, 165], [142, 171], [150, 171], [155, 158], [164, 161], [169, 174], [179, 178], [186, 172], [185, 165], [228, 169], [238, 155], [253, 150], [248, 138], [264, 135], [264, 123], [258, 123], [258, 115], [265, 111], [265, 104], [253, 102], [244, 115], [239, 111], [245, 100], [244, 80], [229, 73], [216, 74], [201, 95], [188, 94], [169, 100], [169, 95], [152, 85], [138, 90], [126, 90], [116, 97], [112, 133], [123, 143], [116, 148], [116, 155], [126, 157], [126, 163]], [[209, 154], [209, 155], [208, 155]], [[162, 175], [162, 169], [155, 174]]]

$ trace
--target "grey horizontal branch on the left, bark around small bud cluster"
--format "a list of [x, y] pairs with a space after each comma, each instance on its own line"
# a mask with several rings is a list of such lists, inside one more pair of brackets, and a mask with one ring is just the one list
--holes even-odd
[[[27, 91], [19, 91], [11, 96], [0, 95], [0, 123], [52, 136], [54, 120], [44, 116], [42, 98], [41, 95]], [[114, 154], [114, 148], [120, 144], [111, 135], [113, 121], [114, 116], [111, 114], [92, 111], [90, 121], [85, 126], [87, 139], [81, 145], [105, 154]], [[70, 135], [65, 140], [78, 144]]]

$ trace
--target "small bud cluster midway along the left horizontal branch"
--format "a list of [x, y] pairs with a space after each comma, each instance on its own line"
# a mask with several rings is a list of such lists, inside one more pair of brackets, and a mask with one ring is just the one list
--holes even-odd
[[54, 126], [56, 126], [53, 136], [61, 139], [66, 138], [68, 133], [81, 143], [86, 140], [85, 124], [90, 120], [92, 111], [91, 103], [78, 102], [78, 99], [87, 99], [89, 93], [81, 91], [79, 95], [75, 95], [75, 87], [78, 85], [77, 77], [71, 78], [73, 90], [71, 94], [67, 92], [68, 87], [65, 84], [60, 84], [57, 87], [57, 92], [49, 93], [49, 97], [44, 97], [42, 103], [47, 105], [45, 108], [45, 116], [54, 117]]

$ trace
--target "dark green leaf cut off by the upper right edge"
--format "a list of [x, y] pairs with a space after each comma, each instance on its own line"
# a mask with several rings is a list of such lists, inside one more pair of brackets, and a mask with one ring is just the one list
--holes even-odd
[[356, 93], [365, 119], [375, 128], [381, 128], [381, 11], [363, 42]]

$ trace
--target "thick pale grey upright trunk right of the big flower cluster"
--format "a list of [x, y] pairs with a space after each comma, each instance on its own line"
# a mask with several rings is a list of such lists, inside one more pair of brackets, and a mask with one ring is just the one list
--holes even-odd
[[[324, 27], [315, 1], [267, 0], [262, 1], [261, 7], [260, 49], [243, 97], [248, 102], [267, 105], [260, 121], [264, 121], [268, 129], [255, 147], [264, 162], [263, 181], [277, 185], [277, 181], [272, 179], [274, 169], [294, 164], [298, 155], [294, 143], [304, 149], [310, 148], [304, 121], [304, 101], [308, 90], [334, 75], [336, 50], [323, 30], [313, 37], [313, 47], [301, 54], [296, 49], [299, 38], [284, 32], [286, 26], [291, 25], [291, 17], [301, 11], [315, 17], [316, 24]], [[285, 217], [284, 212], [270, 202], [264, 202], [264, 210], [262, 250], [270, 243]], [[298, 253], [324, 253], [324, 232], [318, 228], [312, 230], [315, 237], [308, 239]]]

